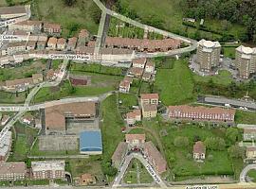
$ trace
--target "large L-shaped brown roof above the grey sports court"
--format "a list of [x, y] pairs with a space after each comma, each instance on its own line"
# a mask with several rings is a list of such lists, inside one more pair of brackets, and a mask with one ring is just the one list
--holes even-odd
[[74, 102], [47, 107], [46, 129], [65, 130], [65, 116], [91, 116], [96, 113], [95, 102]]

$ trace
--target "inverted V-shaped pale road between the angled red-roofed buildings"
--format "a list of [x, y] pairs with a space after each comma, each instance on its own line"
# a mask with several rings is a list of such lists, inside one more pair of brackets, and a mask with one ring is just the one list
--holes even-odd
[[161, 188], [166, 188], [167, 187], [165, 182], [163, 180], [161, 180], [161, 177], [156, 173], [156, 171], [154, 170], [153, 166], [150, 163], [148, 163], [148, 161], [146, 159], [144, 159], [144, 157], [140, 153], [130, 153], [129, 155], [127, 155], [125, 157], [124, 162], [121, 163], [121, 165], [119, 167], [119, 175], [114, 180], [114, 183], [112, 185], [113, 188], [117, 188], [117, 187], [120, 186], [119, 183], [122, 180], [122, 178], [123, 178], [123, 176], [124, 176], [128, 166], [129, 166], [129, 163], [131, 162], [131, 160], [133, 158], [136, 158], [139, 162], [141, 162], [146, 167], [146, 169], [149, 172], [149, 174], [153, 177], [155, 182], [157, 184], [159, 184], [159, 186]]

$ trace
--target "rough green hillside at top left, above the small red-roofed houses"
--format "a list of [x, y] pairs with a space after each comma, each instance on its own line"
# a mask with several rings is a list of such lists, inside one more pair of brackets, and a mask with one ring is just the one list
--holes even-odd
[[34, 19], [61, 24], [64, 37], [77, 34], [81, 28], [96, 34], [98, 25], [89, 13], [93, 6], [91, 0], [78, 0], [71, 7], [65, 6], [63, 0], [35, 0]]

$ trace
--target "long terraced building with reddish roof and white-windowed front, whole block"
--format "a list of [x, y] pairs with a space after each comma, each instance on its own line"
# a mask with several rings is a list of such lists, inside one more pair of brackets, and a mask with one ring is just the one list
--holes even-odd
[[192, 107], [188, 105], [170, 106], [168, 115], [171, 119], [224, 122], [234, 122], [235, 110], [219, 107], [208, 108], [203, 106]]

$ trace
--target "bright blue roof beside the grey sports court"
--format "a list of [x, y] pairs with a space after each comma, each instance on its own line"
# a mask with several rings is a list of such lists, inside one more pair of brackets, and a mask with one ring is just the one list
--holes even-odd
[[80, 151], [102, 151], [101, 130], [86, 130], [80, 133]]

